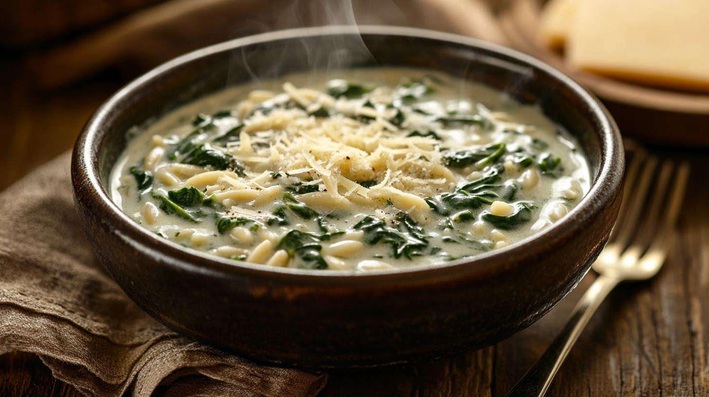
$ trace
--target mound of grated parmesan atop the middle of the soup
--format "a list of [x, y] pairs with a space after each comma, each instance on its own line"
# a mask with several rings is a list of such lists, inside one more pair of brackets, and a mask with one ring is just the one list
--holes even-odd
[[[313, 179], [310, 184], [321, 184], [319, 189], [333, 198], [342, 194], [367, 197], [370, 189], [359, 184], [362, 181], [380, 181], [372, 187], [374, 190], [396, 186], [402, 193], [423, 196], [456, 183], [457, 177], [441, 164], [437, 140], [406, 136], [406, 130], [399, 130], [376, 108], [343, 98], [335, 101], [289, 83], [283, 89], [291, 100], [306, 108], [316, 101], [330, 102], [328, 105], [335, 108], [354, 106], [352, 114], [375, 120], [363, 123], [342, 114], [317, 118], [300, 108], [274, 108], [244, 121], [239, 146], [230, 150], [237, 160], [259, 171], [282, 171], [305, 181]], [[261, 186], [262, 181], [255, 184]]]

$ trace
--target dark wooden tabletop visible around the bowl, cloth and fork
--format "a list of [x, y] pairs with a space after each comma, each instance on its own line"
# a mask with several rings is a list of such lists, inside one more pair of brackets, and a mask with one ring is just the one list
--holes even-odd
[[[91, 111], [121, 81], [104, 74], [51, 94], [11, 86], [4, 93], [9, 105], [0, 106], [0, 189], [69, 150]], [[674, 250], [655, 279], [611, 293], [548, 396], [709, 396], [709, 157], [701, 150], [662, 153], [693, 166]], [[593, 277], [496, 346], [446, 362], [333, 374], [321, 394], [503, 396], [542, 354]], [[30, 354], [0, 357], [0, 396], [79, 395]]]

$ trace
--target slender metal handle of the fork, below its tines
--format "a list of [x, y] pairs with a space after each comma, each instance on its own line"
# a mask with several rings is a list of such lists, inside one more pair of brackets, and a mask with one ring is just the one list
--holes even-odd
[[579, 303], [576, 303], [576, 307], [571, 312], [571, 317], [564, 325], [562, 332], [559, 332], [552, 345], [549, 345], [547, 351], [506, 394], [506, 397], [542, 397], [547, 393], [554, 375], [557, 374], [564, 359], [569, 355], [571, 347], [584, 331], [588, 320], [591, 320], [591, 316], [596, 313], [598, 306], [601, 306], [603, 299], [619, 282], [620, 280], [615, 277], [603, 275], [593, 281]]

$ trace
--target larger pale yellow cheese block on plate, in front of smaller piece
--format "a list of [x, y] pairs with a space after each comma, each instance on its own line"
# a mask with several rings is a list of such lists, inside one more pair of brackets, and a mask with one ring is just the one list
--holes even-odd
[[578, 0], [566, 51], [589, 72], [709, 90], [709, 0]]

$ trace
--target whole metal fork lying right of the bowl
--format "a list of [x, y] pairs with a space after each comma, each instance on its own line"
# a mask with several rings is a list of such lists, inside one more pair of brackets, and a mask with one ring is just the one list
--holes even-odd
[[657, 157], [647, 155], [644, 150], [633, 152], [625, 174], [618, 221], [608, 245], [593, 263], [598, 278], [576, 303], [569, 321], [552, 345], [506, 397], [544, 396], [571, 347], [608, 293], [621, 281], [647, 280], [659, 272], [679, 216], [689, 165], [675, 165], [666, 160], [657, 169], [658, 164]]

